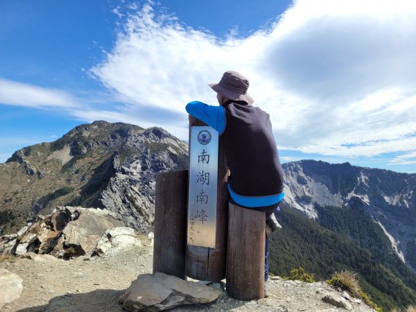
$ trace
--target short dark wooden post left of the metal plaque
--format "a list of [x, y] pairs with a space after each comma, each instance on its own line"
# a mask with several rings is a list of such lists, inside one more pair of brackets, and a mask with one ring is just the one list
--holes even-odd
[[187, 170], [156, 175], [153, 273], [186, 278], [187, 203]]

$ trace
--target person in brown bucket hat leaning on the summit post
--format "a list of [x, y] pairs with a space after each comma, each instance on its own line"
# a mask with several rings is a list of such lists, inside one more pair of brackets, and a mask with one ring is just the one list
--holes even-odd
[[[270, 116], [247, 94], [249, 81], [236, 71], [226, 71], [219, 83], [209, 84], [218, 105], [200, 101], [187, 104], [191, 116], [218, 131], [225, 150], [230, 201], [239, 207], [266, 211], [266, 233], [281, 229], [275, 211], [284, 197], [283, 171], [272, 135]], [[264, 279], [268, 281], [268, 236], [266, 234]], [[265, 297], [268, 286], [265, 283]]]

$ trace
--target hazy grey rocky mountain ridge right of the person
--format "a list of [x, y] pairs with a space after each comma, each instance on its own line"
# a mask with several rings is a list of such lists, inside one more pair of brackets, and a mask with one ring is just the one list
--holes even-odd
[[358, 228], [340, 225], [331, 217], [331, 211], [322, 207], [346, 206], [362, 211], [385, 232], [401, 261], [416, 272], [416, 174], [313, 160], [291, 162], [283, 167], [284, 200], [288, 205], [321, 224], [324, 216], [324, 226], [355, 240], [363, 233], [357, 233]]

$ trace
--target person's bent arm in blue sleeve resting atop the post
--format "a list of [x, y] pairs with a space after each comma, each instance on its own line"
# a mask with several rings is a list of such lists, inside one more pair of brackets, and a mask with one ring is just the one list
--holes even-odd
[[225, 110], [220, 105], [207, 105], [199, 101], [189, 102], [185, 107], [188, 114], [210, 125], [222, 134], [225, 130]]

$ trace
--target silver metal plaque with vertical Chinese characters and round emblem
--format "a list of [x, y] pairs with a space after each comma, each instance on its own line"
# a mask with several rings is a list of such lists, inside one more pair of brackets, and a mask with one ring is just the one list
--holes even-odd
[[188, 245], [215, 248], [218, 132], [192, 126], [189, 141]]

